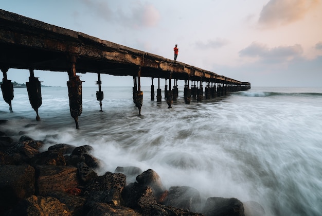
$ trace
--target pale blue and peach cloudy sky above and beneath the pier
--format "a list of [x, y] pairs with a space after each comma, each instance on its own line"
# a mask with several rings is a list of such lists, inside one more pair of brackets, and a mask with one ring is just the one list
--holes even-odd
[[[3, 10], [168, 59], [178, 44], [177, 61], [252, 86], [322, 86], [322, 0], [0, 2]], [[29, 71], [9, 69], [7, 76], [24, 83]], [[43, 85], [68, 81], [67, 73], [36, 70], [35, 76]], [[101, 79], [103, 86], [133, 83], [132, 77]], [[97, 75], [81, 80], [95, 86]]]

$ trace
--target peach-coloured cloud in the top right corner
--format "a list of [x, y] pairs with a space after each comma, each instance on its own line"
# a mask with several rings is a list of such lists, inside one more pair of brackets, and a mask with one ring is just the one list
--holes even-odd
[[259, 24], [272, 27], [288, 25], [302, 19], [319, 0], [270, 0], [262, 9]]

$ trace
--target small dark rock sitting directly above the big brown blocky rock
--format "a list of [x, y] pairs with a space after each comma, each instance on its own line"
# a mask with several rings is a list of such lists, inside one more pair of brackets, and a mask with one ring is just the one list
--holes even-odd
[[65, 166], [66, 159], [61, 152], [46, 151], [30, 159], [32, 165]]

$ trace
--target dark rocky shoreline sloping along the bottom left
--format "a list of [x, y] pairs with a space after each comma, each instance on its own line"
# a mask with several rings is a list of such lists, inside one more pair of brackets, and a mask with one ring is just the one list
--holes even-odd
[[202, 203], [192, 187], [166, 189], [152, 169], [117, 167], [99, 176], [91, 146], [59, 143], [40, 152], [44, 141], [20, 135], [13, 140], [0, 132], [0, 215], [265, 214], [254, 201], [209, 197]]

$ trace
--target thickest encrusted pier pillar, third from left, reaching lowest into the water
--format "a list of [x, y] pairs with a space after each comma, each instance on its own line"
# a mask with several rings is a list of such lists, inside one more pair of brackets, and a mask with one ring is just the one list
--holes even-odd
[[74, 118], [76, 129], [79, 128], [78, 117], [83, 111], [82, 102], [82, 81], [76, 75], [76, 57], [70, 57], [70, 69], [68, 72], [69, 81], [67, 81], [69, 110], [71, 117]]

